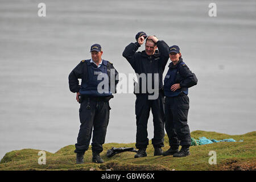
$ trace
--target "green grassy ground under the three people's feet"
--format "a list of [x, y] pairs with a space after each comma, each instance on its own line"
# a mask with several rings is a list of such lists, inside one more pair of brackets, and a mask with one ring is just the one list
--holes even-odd
[[[208, 131], [193, 131], [191, 137], [210, 139], [233, 138], [243, 142], [219, 142], [191, 146], [191, 155], [185, 158], [154, 156], [152, 144], [148, 145], [147, 157], [134, 158], [135, 152], [122, 152], [108, 158], [106, 151], [112, 147], [135, 147], [135, 143], [106, 143], [101, 153], [105, 163], [92, 163], [92, 150], [85, 152], [85, 164], [76, 164], [75, 145], [65, 146], [52, 154], [46, 151], [46, 165], [38, 164], [41, 150], [23, 149], [7, 152], [0, 163], [0, 170], [255, 170], [256, 131], [244, 135], [226, 135]], [[151, 142], [150, 142], [151, 143]], [[168, 150], [168, 138], [164, 137], [163, 150]], [[217, 164], [210, 165], [209, 151], [216, 151]]]

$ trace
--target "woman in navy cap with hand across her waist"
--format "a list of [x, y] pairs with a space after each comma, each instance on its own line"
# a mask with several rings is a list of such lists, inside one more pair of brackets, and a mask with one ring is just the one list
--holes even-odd
[[[189, 146], [191, 146], [188, 127], [188, 88], [197, 84], [197, 78], [181, 58], [178, 46], [171, 46], [169, 53], [171, 63], [164, 78], [164, 95], [166, 96], [164, 113], [170, 149], [163, 152], [163, 155], [184, 157], [190, 155]], [[180, 151], [179, 146], [181, 146]]]

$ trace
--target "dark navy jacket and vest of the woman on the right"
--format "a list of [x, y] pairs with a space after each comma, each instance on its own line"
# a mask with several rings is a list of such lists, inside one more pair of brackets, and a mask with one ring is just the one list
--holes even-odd
[[[188, 94], [188, 88], [197, 84], [196, 75], [189, 70], [182, 58], [180, 58], [176, 65], [171, 62], [168, 67], [167, 75], [164, 78], [165, 96], [175, 97], [178, 96], [180, 92]], [[171, 86], [174, 84], [180, 84], [181, 88], [172, 92]]]

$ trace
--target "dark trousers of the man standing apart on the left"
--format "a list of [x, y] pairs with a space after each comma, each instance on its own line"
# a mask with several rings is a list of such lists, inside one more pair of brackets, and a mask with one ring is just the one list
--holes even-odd
[[[90, 106], [90, 109], [88, 106]], [[76, 153], [84, 154], [88, 150], [91, 137], [92, 151], [102, 152], [102, 144], [105, 143], [106, 129], [109, 123], [109, 110], [109, 101], [88, 99], [82, 101], [79, 109], [81, 125], [77, 143], [75, 144]]]

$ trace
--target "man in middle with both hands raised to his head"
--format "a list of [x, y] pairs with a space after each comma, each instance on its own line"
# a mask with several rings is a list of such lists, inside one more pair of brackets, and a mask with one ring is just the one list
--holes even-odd
[[[164, 107], [163, 107], [163, 71], [166, 67], [169, 59], [168, 45], [163, 40], [158, 40], [155, 36], [147, 36], [145, 32], [138, 32], [135, 36], [137, 42], [130, 43], [123, 51], [123, 57], [127, 59], [131, 67], [133, 67], [135, 73], [138, 75], [151, 74], [158, 75], [156, 81], [158, 87], [155, 86], [154, 76], [152, 76], [152, 87], [159, 92], [156, 99], [150, 99], [150, 92], [148, 88], [142, 88], [142, 85], [147, 85], [150, 82], [148, 77], [144, 80], [138, 78], [139, 89], [138, 92], [134, 92], [136, 95], [135, 101], [135, 114], [137, 124], [136, 144], [139, 149], [134, 158], [140, 158], [147, 156], [146, 148], [148, 145], [147, 138], [147, 122], [150, 115], [150, 110], [153, 115], [154, 123], [154, 138], [152, 138], [152, 144], [155, 148], [154, 155], [162, 155], [162, 148], [164, 146]], [[136, 52], [139, 47], [145, 43], [145, 50], [142, 52]], [[156, 50], [158, 48], [159, 50]], [[135, 85], [135, 88], [137, 87]], [[143, 92], [146, 90], [146, 92]]]

